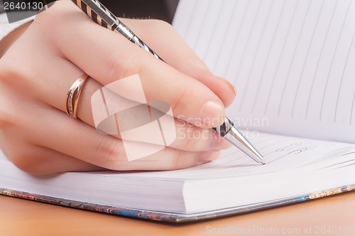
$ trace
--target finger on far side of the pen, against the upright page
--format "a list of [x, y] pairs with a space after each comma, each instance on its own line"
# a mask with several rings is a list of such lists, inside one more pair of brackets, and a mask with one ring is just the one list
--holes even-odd
[[[158, 53], [168, 65], [180, 72], [194, 77], [209, 87], [224, 103], [229, 106], [236, 97], [236, 88], [228, 80], [213, 75], [207, 65], [181, 38], [178, 31], [163, 21], [132, 20], [122, 18], [136, 35]], [[153, 32], [153, 33], [152, 33]]]

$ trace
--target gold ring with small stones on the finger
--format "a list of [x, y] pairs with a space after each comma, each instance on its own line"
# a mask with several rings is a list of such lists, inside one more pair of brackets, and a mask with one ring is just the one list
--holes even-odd
[[[80, 76], [70, 87], [65, 99], [65, 109], [70, 117], [77, 118], [77, 102], [79, 101], [80, 93], [82, 92], [82, 86], [89, 75], [84, 74]], [[74, 102], [73, 102], [74, 100]]]

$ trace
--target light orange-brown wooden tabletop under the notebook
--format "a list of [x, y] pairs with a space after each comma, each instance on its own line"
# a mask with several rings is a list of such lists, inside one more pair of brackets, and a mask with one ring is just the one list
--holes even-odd
[[[355, 193], [173, 225], [0, 196], [0, 235], [355, 235]], [[218, 233], [223, 232], [224, 233]]]

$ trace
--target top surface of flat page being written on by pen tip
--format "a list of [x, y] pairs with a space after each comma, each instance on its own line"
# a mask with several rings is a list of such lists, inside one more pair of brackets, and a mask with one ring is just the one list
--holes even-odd
[[[248, 135], [248, 134], [247, 134]], [[251, 136], [251, 135], [249, 135]], [[211, 163], [178, 171], [132, 173], [144, 178], [207, 179], [256, 176], [279, 176], [283, 172], [313, 171], [355, 166], [355, 145], [291, 136], [259, 133], [250, 141], [263, 154], [266, 165], [259, 165], [239, 149], [227, 149]], [[353, 168], [353, 167], [350, 167]]]

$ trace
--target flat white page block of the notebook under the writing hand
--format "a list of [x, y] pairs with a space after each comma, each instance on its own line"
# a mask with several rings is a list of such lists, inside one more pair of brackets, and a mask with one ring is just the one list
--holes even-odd
[[355, 145], [273, 134], [261, 134], [251, 141], [263, 153], [266, 165], [229, 149], [217, 161], [177, 171], [62, 173], [45, 177], [23, 173], [0, 153], [0, 188], [103, 205], [192, 213], [354, 183]]

